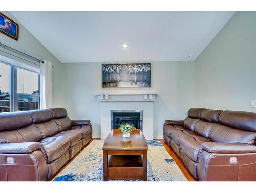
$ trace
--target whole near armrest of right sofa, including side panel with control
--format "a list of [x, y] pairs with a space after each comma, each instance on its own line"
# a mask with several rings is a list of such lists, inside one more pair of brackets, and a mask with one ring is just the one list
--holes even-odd
[[244, 143], [201, 145], [198, 155], [199, 181], [255, 181], [256, 146]]

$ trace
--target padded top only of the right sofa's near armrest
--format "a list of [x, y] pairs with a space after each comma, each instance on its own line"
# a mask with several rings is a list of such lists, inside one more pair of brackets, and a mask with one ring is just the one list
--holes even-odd
[[226, 154], [241, 154], [255, 153], [256, 146], [244, 143], [215, 143], [206, 142], [201, 145], [200, 151], [205, 150], [209, 153], [226, 153]]

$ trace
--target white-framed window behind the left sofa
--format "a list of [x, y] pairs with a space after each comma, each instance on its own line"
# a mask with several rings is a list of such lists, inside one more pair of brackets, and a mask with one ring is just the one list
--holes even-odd
[[0, 112], [40, 108], [40, 75], [0, 63]]

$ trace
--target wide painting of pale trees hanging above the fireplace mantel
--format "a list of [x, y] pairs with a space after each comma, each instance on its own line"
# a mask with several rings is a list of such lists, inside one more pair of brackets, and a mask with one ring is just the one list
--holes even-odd
[[151, 87], [151, 65], [103, 64], [102, 87]]

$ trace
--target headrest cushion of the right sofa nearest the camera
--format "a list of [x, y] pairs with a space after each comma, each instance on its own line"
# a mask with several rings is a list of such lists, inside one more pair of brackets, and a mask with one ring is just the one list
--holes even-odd
[[245, 111], [224, 111], [219, 123], [240, 130], [256, 132], [256, 113]]

